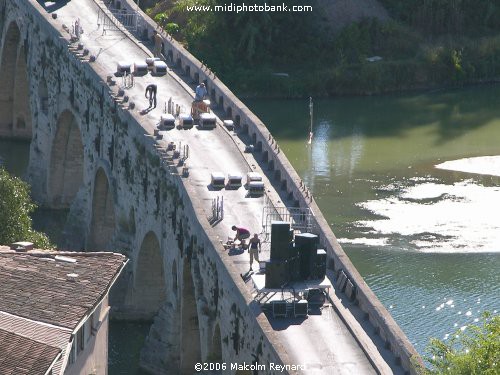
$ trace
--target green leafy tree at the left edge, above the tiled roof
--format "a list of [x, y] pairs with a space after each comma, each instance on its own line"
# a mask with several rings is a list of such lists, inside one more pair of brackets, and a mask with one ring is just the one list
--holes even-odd
[[32, 228], [30, 214], [35, 208], [29, 186], [0, 167], [0, 244], [30, 241], [40, 249], [53, 247], [45, 234]]

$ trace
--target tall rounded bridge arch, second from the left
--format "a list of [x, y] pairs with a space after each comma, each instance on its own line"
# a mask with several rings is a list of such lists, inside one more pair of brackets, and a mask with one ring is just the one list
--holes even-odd
[[52, 141], [48, 181], [53, 208], [69, 208], [83, 183], [82, 135], [75, 115], [65, 110], [59, 116]]

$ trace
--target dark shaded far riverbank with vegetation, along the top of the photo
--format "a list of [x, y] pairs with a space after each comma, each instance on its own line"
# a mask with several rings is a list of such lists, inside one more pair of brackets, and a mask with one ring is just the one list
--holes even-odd
[[498, 26], [480, 18], [488, 4], [441, 2], [457, 16], [451, 22], [444, 10], [418, 7], [420, 1], [403, 11], [384, 0], [377, 12], [362, 14], [359, 3], [353, 0], [344, 14], [339, 9], [345, 2], [315, 0], [309, 13], [266, 17], [202, 16], [186, 12], [186, 1], [180, 1], [159, 2], [148, 13], [240, 97], [364, 96], [500, 81]]

